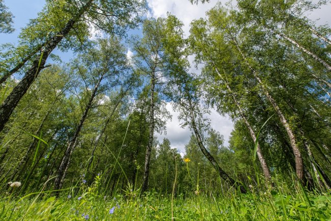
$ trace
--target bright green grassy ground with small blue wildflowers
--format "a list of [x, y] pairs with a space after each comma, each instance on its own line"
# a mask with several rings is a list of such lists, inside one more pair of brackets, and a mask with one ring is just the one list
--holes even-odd
[[102, 196], [91, 187], [56, 198], [53, 192], [0, 198], [0, 220], [331, 220], [326, 192], [281, 188], [222, 196], [163, 196], [123, 191]]

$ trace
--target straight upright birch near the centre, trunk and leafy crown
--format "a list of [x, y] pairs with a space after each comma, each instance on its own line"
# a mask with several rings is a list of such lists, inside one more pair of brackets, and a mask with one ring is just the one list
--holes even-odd
[[143, 38], [132, 39], [131, 45], [135, 52], [132, 60], [135, 68], [149, 78], [149, 142], [146, 149], [144, 179], [142, 191], [148, 188], [150, 157], [153, 146], [154, 131], [156, 129], [156, 109], [159, 109], [157, 99], [160, 96], [161, 87], [164, 85], [164, 77], [169, 73], [167, 67], [167, 54], [164, 52], [164, 24], [166, 20], [146, 20], [143, 25]]

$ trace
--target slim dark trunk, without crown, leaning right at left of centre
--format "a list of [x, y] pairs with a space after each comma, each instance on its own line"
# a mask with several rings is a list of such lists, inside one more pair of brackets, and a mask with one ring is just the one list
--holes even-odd
[[72, 154], [72, 151], [73, 149], [76, 147], [76, 144], [77, 144], [77, 138], [78, 138], [78, 135], [80, 133], [80, 130], [88, 116], [88, 113], [89, 113], [89, 110], [92, 108], [92, 104], [93, 104], [93, 101], [94, 101], [94, 98], [95, 96], [97, 95], [97, 91], [98, 91], [98, 88], [100, 86], [100, 83], [101, 83], [101, 80], [103, 79], [103, 76], [104, 76], [105, 73], [103, 73], [98, 82], [97, 82], [97, 85], [94, 87], [93, 89], [93, 92], [92, 92], [92, 95], [91, 95], [91, 98], [89, 100], [89, 103], [88, 105], [86, 106], [85, 110], [84, 110], [84, 113], [82, 114], [81, 118], [80, 118], [80, 121], [79, 121], [79, 124], [77, 126], [77, 129], [68, 145], [68, 148], [62, 158], [62, 161], [61, 161], [61, 164], [60, 164], [60, 168], [59, 168], [59, 171], [58, 171], [58, 176], [57, 178], [55, 179], [55, 182], [54, 182], [54, 188], [55, 189], [59, 189], [60, 188], [60, 185], [62, 185], [61, 183], [63, 183], [63, 180], [65, 178], [65, 171], [67, 171], [68, 167], [69, 167], [69, 159], [71, 157], [71, 154]]

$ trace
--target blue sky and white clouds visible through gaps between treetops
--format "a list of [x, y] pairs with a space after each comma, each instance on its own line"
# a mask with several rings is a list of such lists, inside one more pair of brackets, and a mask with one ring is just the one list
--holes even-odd
[[[228, 1], [220, 1], [225, 4]], [[314, 1], [315, 2], [315, 1]], [[35, 18], [37, 13], [41, 11], [45, 4], [44, 0], [4, 0], [5, 5], [14, 14], [14, 27], [16, 31], [12, 34], [0, 33], [0, 44], [13, 43], [17, 44], [17, 36], [20, 33], [20, 29], [29, 22], [29, 19]], [[149, 17], [166, 17], [167, 12], [172, 13], [178, 17], [184, 23], [184, 33], [187, 36], [189, 33], [189, 23], [194, 19], [205, 17], [206, 11], [211, 9], [216, 3], [216, 0], [210, 0], [209, 3], [192, 5], [188, 0], [147, 0], [149, 6]], [[323, 8], [316, 10], [312, 13], [307, 14], [312, 20], [317, 20], [318, 25], [331, 24], [331, 3]], [[68, 62], [72, 58], [72, 53], [61, 53], [54, 51], [59, 54], [63, 61]], [[131, 51], [128, 48], [128, 54]], [[192, 58], [190, 58], [192, 63]], [[191, 65], [190, 71], [199, 72], [194, 69], [194, 65]], [[188, 143], [191, 132], [189, 129], [181, 128], [180, 122], [178, 121], [178, 113], [174, 112], [171, 103], [167, 103], [167, 109], [173, 115], [172, 120], [167, 122], [167, 134], [156, 134], [159, 142], [162, 142], [164, 137], [167, 137], [172, 148], [177, 148], [179, 152], [184, 152], [185, 144]], [[225, 145], [228, 145], [229, 136], [233, 129], [233, 122], [228, 116], [220, 116], [215, 109], [211, 109], [211, 114], [207, 116], [210, 119], [211, 127], [218, 131], [224, 136]]]

